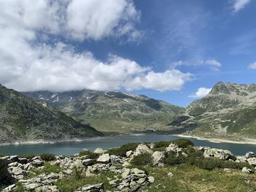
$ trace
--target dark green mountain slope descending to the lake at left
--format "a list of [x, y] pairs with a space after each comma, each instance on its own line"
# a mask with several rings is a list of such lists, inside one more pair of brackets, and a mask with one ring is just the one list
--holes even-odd
[[73, 139], [102, 135], [44, 101], [34, 101], [0, 85], [0, 142]]

